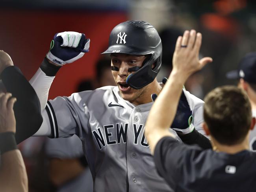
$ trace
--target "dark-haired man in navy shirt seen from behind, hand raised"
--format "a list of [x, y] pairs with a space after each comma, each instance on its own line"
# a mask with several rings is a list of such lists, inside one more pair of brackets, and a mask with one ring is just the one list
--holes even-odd
[[148, 115], [145, 135], [156, 168], [179, 192], [255, 191], [256, 153], [249, 151], [249, 131], [256, 120], [243, 90], [219, 87], [204, 99], [203, 128], [215, 151], [184, 145], [169, 132], [186, 79], [212, 61], [198, 61], [201, 34], [195, 37], [178, 37], [173, 71]]

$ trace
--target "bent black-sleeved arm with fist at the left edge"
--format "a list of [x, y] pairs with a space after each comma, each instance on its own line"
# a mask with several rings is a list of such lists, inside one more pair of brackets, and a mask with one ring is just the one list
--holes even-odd
[[39, 99], [20, 69], [13, 66], [11, 57], [0, 50], [0, 59], [0, 92], [10, 92], [18, 99], [13, 110], [17, 121], [15, 140], [19, 144], [35, 134], [43, 122]]

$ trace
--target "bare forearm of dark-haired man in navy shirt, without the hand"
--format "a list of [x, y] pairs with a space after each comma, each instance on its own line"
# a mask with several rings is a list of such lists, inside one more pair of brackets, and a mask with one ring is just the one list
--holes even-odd
[[169, 133], [169, 127], [176, 114], [183, 84], [184, 79], [178, 73], [172, 72], [150, 110], [145, 134], [152, 152], [160, 138], [167, 135], [174, 137]]

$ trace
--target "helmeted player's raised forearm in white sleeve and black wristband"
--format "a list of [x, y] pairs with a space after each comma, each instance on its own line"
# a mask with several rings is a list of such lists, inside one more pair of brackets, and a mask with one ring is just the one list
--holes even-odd
[[29, 81], [37, 93], [41, 103], [41, 111], [44, 111], [46, 107], [48, 93], [59, 68], [59, 66], [52, 65], [47, 59], [44, 59], [40, 68]]

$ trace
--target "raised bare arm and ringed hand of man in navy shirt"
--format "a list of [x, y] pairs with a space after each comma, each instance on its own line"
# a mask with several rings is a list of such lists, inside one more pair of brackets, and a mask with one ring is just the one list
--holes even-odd
[[162, 137], [174, 137], [169, 132], [169, 127], [176, 114], [182, 87], [187, 78], [212, 61], [210, 57], [198, 59], [201, 41], [201, 33], [196, 33], [195, 30], [185, 31], [183, 37], [177, 39], [173, 55], [173, 71], [152, 106], [145, 126], [145, 135], [151, 153], [154, 153], [154, 148]]

